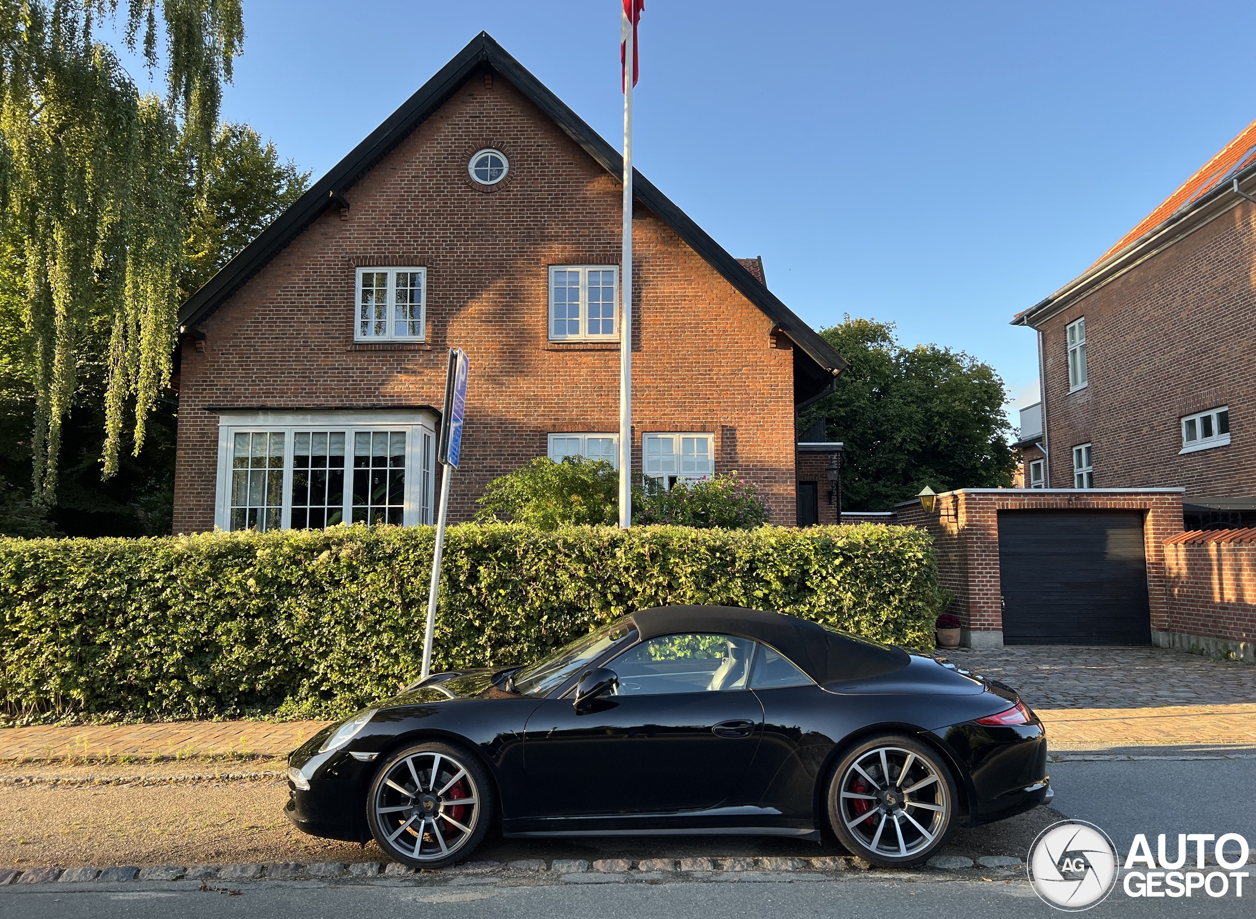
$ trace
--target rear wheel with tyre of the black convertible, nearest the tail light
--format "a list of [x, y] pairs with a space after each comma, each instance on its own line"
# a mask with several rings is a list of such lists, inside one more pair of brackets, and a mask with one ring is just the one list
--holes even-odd
[[887, 868], [936, 854], [955, 822], [955, 780], [931, 747], [903, 734], [850, 750], [829, 783], [829, 821], [842, 844]]

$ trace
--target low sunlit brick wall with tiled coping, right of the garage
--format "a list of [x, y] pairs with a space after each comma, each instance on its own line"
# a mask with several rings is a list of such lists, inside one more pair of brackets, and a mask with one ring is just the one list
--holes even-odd
[[1256, 531], [1182, 534], [1164, 562], [1168, 631], [1256, 643]]

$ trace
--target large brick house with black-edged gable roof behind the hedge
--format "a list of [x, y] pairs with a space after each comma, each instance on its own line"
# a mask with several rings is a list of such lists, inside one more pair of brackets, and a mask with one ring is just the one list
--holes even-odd
[[[533, 457], [618, 453], [622, 159], [481, 33], [180, 313], [175, 531], [451, 520]], [[795, 404], [845, 365], [642, 176], [634, 466], [737, 470], [794, 524]]]

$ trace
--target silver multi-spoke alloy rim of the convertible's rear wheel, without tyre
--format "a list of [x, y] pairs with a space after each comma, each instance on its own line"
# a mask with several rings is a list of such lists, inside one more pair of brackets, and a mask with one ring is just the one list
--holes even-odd
[[838, 815], [868, 852], [909, 859], [946, 832], [951, 816], [947, 782], [917, 751], [873, 747], [847, 767]]

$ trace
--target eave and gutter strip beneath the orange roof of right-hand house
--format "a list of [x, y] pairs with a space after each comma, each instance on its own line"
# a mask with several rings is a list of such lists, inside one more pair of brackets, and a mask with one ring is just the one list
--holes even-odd
[[1213, 217], [1220, 217], [1232, 207], [1237, 207], [1245, 198], [1235, 193], [1235, 183], [1242, 187], [1253, 176], [1256, 176], [1256, 163], [1235, 175], [1233, 181], [1218, 185], [1208, 193], [1199, 196], [1120, 251], [1114, 252], [1109, 259], [1074, 277], [1049, 298], [1040, 300], [1022, 313], [1017, 313], [1012, 318], [1011, 325], [1037, 328], [1037, 323], [1050, 319], [1070, 306], [1073, 301], [1102, 288], [1183, 236], [1188, 236]]

